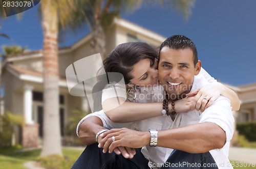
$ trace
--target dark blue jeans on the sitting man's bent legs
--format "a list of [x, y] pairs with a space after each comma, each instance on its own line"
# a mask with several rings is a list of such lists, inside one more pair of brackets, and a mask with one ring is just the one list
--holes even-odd
[[[98, 148], [98, 144], [87, 146], [82, 152], [80, 157], [72, 166], [72, 169], [143, 169], [148, 167], [148, 160], [140, 152], [141, 149], [135, 149], [135, 156], [130, 158], [124, 158], [122, 155], [118, 155], [114, 152], [103, 153], [102, 148]], [[203, 165], [206, 164], [205, 167]], [[214, 158], [207, 153], [190, 154], [180, 150], [174, 150], [167, 161], [161, 165], [161, 168], [218, 168], [209, 165], [216, 164]], [[208, 166], [207, 166], [208, 165]], [[153, 164], [154, 166], [154, 164]]]

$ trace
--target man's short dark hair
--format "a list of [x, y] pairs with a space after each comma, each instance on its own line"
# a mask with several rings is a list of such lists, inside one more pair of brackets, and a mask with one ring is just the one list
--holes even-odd
[[159, 48], [158, 60], [160, 60], [160, 52], [164, 46], [168, 46], [169, 49], [176, 50], [190, 48], [193, 51], [194, 66], [196, 66], [198, 62], [197, 47], [189, 38], [185, 37], [184, 35], [174, 35], [165, 39]]

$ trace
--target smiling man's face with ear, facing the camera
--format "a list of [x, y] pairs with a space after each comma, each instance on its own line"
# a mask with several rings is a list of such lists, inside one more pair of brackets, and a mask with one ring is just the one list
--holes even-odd
[[189, 93], [194, 75], [198, 75], [200, 69], [201, 62], [198, 61], [195, 67], [190, 48], [176, 50], [164, 46], [160, 51], [159, 80], [171, 100], [181, 99], [183, 94]]

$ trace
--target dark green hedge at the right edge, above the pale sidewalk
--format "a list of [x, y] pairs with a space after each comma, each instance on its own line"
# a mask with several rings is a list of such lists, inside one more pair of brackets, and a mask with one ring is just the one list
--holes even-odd
[[239, 135], [244, 135], [249, 142], [256, 142], [256, 122], [237, 123]]

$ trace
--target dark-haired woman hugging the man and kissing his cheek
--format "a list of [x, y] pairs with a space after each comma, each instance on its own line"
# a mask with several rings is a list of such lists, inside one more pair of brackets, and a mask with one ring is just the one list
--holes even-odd
[[[118, 45], [103, 61], [105, 72], [121, 73], [125, 84], [133, 87], [134, 90], [132, 91], [137, 96], [132, 96], [133, 100], [131, 98], [127, 99], [132, 102], [125, 101], [126, 90], [124, 87], [114, 83], [115, 90], [117, 90], [114, 91], [113, 84], [108, 85], [108, 83], [102, 83], [103, 80], [99, 80], [93, 89], [93, 93], [95, 93], [93, 95], [94, 105], [101, 105], [102, 103], [105, 114], [117, 123], [135, 122], [162, 116], [164, 90], [158, 81], [157, 57], [157, 50], [146, 43], [130, 42]], [[231, 101], [233, 110], [239, 109], [240, 102], [236, 93], [217, 82], [204, 69], [201, 68], [200, 73], [210, 84], [200, 90], [190, 92], [186, 99], [175, 101], [176, 112], [185, 112], [195, 108], [203, 111], [220, 95]], [[103, 92], [99, 92], [102, 89]], [[113, 95], [115, 92], [118, 95]], [[208, 98], [207, 104], [202, 103], [204, 97]], [[172, 105], [169, 104], [168, 106], [170, 110]], [[100, 106], [95, 110], [100, 110], [102, 107]], [[82, 121], [78, 124], [77, 129]]]

